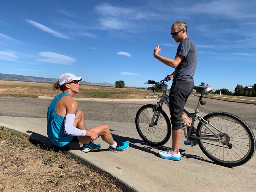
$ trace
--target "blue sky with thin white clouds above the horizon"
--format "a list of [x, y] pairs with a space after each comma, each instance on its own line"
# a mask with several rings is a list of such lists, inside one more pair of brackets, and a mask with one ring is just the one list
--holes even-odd
[[256, 83], [253, 0], [1, 0], [0, 73], [148, 87], [174, 69], [171, 25], [183, 20], [198, 49], [195, 85], [234, 92]]

